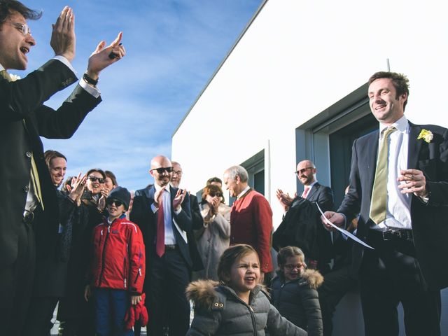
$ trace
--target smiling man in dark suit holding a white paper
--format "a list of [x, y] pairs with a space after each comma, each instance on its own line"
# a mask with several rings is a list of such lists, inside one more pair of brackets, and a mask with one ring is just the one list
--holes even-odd
[[400, 73], [374, 73], [368, 95], [379, 130], [354, 141], [349, 193], [337, 213], [324, 216], [342, 226], [360, 214], [357, 236], [374, 248], [353, 248], [365, 335], [398, 335], [399, 302], [406, 335], [440, 335], [440, 289], [448, 286], [448, 130], [407, 120], [408, 80]]

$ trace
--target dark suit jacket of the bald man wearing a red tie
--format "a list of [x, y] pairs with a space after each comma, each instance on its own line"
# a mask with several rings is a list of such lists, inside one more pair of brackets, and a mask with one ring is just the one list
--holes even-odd
[[[171, 201], [173, 202], [174, 196], [177, 193], [177, 188], [169, 186], [169, 193], [171, 195]], [[154, 214], [153, 209], [151, 209], [151, 204], [154, 203], [155, 188], [145, 188], [137, 190], [134, 195], [134, 203], [132, 204], [132, 211], [130, 214], [130, 220], [139, 225], [141, 233], [144, 237], [144, 242], [146, 246], [146, 265], [151, 266], [151, 255], [148, 251], [155, 251], [155, 238], [157, 237], [157, 212]], [[171, 204], [173, 205], [173, 203]], [[181, 230], [186, 233], [193, 232], [193, 221], [191, 219], [190, 210], [190, 197], [188, 195], [185, 197], [181, 204], [182, 210], [176, 215], [174, 214], [173, 206], [172, 218], [176, 221], [177, 225]], [[174, 222], [172, 223], [174, 237], [176, 237], [176, 244], [181, 251], [181, 255], [186, 262], [186, 265], [191, 269], [193, 267], [193, 260], [190, 255], [190, 250], [188, 248], [187, 242], [183, 239], [179, 231], [176, 229]], [[150, 269], [150, 268], [147, 268]]]

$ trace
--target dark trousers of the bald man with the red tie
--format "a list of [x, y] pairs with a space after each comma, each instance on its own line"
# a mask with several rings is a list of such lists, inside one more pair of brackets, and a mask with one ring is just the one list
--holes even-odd
[[170, 336], [185, 336], [190, 328], [190, 304], [185, 295], [190, 269], [177, 248], [165, 251], [162, 258], [152, 253], [148, 334], [164, 335], [167, 324]]

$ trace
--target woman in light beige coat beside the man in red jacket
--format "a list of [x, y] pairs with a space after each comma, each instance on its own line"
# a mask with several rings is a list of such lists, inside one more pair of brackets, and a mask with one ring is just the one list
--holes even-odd
[[204, 269], [195, 272], [195, 279], [218, 280], [218, 261], [230, 242], [230, 207], [223, 200], [219, 186], [209, 185], [202, 190], [200, 208], [204, 226], [195, 230], [195, 237]]

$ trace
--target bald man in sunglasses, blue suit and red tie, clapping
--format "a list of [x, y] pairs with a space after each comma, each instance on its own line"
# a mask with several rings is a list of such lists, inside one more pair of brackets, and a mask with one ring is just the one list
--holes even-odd
[[173, 166], [165, 156], [153, 158], [149, 172], [154, 185], [135, 192], [130, 214], [146, 246], [148, 332], [164, 335], [167, 324], [169, 335], [183, 336], [190, 324], [185, 290], [193, 266], [187, 239], [193, 230], [190, 197], [186, 197], [186, 190], [169, 185]]

